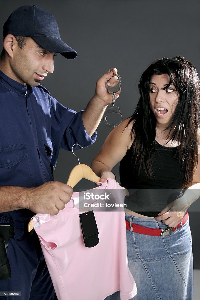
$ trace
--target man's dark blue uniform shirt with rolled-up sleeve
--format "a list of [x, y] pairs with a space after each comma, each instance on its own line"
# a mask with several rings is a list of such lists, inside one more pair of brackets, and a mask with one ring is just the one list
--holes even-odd
[[[49, 95], [42, 85], [26, 88], [0, 71], [0, 185], [34, 187], [53, 180], [59, 149], [74, 143], [90, 146], [90, 137], [76, 113]], [[21, 209], [1, 215], [25, 219], [34, 213]]]

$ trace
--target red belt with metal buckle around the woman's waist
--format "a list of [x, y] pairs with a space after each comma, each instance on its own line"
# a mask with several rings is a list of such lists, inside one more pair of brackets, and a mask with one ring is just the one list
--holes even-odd
[[[184, 225], [188, 219], [188, 211], [181, 220], [182, 225]], [[148, 228], [148, 227], [143, 227], [134, 223], [131, 223], [126, 220], [126, 229], [129, 231], [141, 233], [141, 234], [146, 234], [146, 235], [155, 235], [155, 236], [168, 236], [172, 232], [174, 232], [176, 229], [181, 227], [181, 223], [178, 223], [178, 226], [174, 227], [167, 227], [165, 229], [154, 229], [154, 228]], [[132, 228], [131, 228], [132, 227]], [[132, 230], [131, 230], [132, 229]]]

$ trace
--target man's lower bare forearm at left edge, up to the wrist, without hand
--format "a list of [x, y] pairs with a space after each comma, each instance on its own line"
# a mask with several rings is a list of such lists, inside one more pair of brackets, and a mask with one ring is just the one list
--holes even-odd
[[0, 187], [0, 212], [26, 208], [25, 187]]

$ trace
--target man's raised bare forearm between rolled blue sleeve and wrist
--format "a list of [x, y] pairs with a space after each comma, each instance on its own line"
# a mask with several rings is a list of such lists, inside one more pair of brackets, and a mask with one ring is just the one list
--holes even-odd
[[87, 134], [91, 137], [97, 129], [107, 105], [95, 96], [89, 101], [85, 111], [82, 113], [83, 125]]

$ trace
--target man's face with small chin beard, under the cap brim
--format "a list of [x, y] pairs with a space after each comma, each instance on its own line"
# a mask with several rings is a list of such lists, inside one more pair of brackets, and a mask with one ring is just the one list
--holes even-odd
[[48, 73], [53, 73], [54, 55], [28, 38], [23, 49], [16, 45], [13, 51], [10, 61], [12, 79], [22, 84], [39, 85]]

